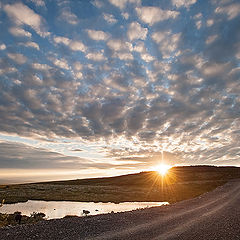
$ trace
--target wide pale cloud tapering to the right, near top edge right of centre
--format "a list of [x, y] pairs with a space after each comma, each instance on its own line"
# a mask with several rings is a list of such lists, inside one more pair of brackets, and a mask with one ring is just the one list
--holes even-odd
[[138, 17], [150, 26], [170, 18], [175, 19], [179, 15], [179, 12], [162, 10], [158, 7], [141, 7], [136, 8], [136, 11]]

